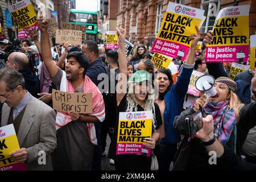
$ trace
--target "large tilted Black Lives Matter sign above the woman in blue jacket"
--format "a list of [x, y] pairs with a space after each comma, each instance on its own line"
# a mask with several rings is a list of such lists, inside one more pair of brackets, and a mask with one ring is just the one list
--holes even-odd
[[184, 61], [192, 41], [205, 20], [204, 10], [169, 2], [151, 51]]

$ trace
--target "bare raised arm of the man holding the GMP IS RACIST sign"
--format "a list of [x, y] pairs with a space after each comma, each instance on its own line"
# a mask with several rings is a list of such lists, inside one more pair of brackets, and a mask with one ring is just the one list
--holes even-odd
[[42, 59], [48, 72], [51, 77], [54, 77], [57, 74], [58, 67], [56, 62], [52, 60], [51, 55], [51, 46], [49, 44], [49, 36], [48, 36], [48, 21], [44, 20], [43, 18], [39, 19], [39, 29], [41, 31], [41, 51], [42, 51]]

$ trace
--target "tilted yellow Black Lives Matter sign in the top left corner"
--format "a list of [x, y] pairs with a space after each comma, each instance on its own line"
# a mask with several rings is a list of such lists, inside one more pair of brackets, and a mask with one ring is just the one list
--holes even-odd
[[29, 0], [18, 1], [14, 5], [9, 5], [8, 9], [16, 23], [23, 28], [28, 36], [31, 35], [32, 28], [36, 27], [38, 30], [38, 19]]

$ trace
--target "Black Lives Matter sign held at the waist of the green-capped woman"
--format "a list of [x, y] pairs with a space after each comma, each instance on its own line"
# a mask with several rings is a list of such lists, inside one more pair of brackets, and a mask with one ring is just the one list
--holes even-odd
[[117, 155], [137, 154], [150, 157], [151, 148], [143, 140], [152, 135], [152, 111], [119, 113]]

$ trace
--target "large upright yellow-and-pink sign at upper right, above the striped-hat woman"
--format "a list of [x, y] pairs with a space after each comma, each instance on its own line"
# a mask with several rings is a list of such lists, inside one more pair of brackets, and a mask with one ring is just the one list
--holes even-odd
[[247, 62], [249, 56], [250, 5], [226, 7], [213, 26], [213, 41], [207, 46], [205, 61]]

